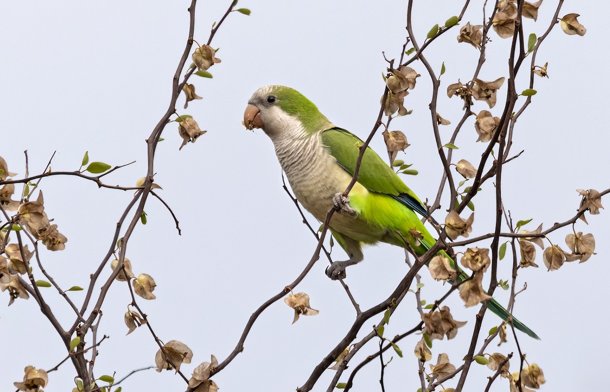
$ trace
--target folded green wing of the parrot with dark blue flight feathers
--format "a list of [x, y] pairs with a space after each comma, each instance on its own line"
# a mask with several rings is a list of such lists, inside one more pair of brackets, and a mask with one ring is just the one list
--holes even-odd
[[[351, 175], [356, 169], [360, 138], [345, 129], [331, 128], [320, 134], [322, 143], [337, 163]], [[362, 157], [358, 182], [369, 191], [386, 193], [422, 216], [428, 216], [422, 201], [407, 187], [396, 173], [370, 148]]]

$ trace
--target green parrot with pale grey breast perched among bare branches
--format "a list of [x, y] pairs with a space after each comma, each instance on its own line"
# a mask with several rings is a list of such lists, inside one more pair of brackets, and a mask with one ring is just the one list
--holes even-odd
[[[303, 94], [279, 85], [259, 88], [248, 101], [244, 125], [260, 128], [271, 138], [296, 198], [318, 221], [325, 221], [332, 207], [339, 211], [332, 215], [329, 229], [350, 258], [326, 269], [331, 279], [345, 277], [347, 266], [362, 261], [364, 244], [385, 242], [423, 255], [436, 243], [417, 215], [428, 217], [422, 201], [372, 149], [365, 151], [358, 180], [348, 197], [342, 196], [364, 143], [332, 124]], [[414, 238], [411, 230], [422, 233], [423, 238]], [[458, 280], [467, 279], [456, 263], [450, 262], [458, 271]], [[489, 309], [504, 321], [511, 316], [494, 299]], [[517, 319], [512, 318], [512, 323], [538, 338]]]

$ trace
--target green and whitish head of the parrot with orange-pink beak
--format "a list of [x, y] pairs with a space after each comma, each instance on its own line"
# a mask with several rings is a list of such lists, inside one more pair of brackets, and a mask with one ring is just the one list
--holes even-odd
[[279, 85], [256, 90], [243, 113], [243, 124], [248, 129], [260, 128], [271, 138], [295, 127], [310, 133], [332, 127], [303, 94]]

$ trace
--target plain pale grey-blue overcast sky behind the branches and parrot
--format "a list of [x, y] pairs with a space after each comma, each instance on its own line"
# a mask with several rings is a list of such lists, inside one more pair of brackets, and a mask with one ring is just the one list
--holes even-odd
[[[54, 151], [54, 171], [76, 170], [88, 151], [91, 161], [110, 165], [137, 161], [106, 177], [112, 185], [134, 185], [146, 173], [145, 138], [170, 100], [171, 78], [187, 39], [189, 3], [2, 2], [0, 156], [9, 170], [23, 176], [26, 149], [30, 174], [41, 173]], [[220, 19], [228, 3], [202, 1], [198, 5], [196, 40], [207, 40], [210, 25]], [[472, 2], [463, 23], [481, 24], [478, 3]], [[209, 69], [213, 79], [192, 79], [204, 99], [192, 102], [188, 110], [182, 110], [183, 98], [178, 101], [178, 112], [193, 115], [207, 134], [178, 151], [177, 126], [169, 124], [163, 132], [165, 141], [157, 149], [155, 180], [178, 216], [182, 236], [167, 210], [149, 199], [148, 224], [137, 227], [127, 251], [134, 272], [148, 273], [157, 282], [157, 299], [138, 302], [157, 335], [166, 342], [182, 341], [194, 352], [193, 363], [182, 368], [187, 375], [209, 361], [210, 354], [219, 361], [226, 358], [251, 313], [300, 274], [316, 245], [282, 190], [271, 141], [262, 131], [251, 132], [241, 124], [249, 97], [262, 85], [294, 87], [335, 124], [364, 138], [375, 123], [384, 89], [381, 74], [387, 63], [381, 52], [399, 57], [406, 37], [406, 1], [241, 0], [239, 6], [251, 9], [252, 15], [233, 13], [221, 26], [212, 45], [220, 47], [217, 56], [222, 63]], [[455, 1], [417, 2], [413, 23], [420, 44], [431, 26], [443, 24], [461, 7]], [[554, 7], [545, 1], [539, 21], [525, 21], [526, 33], [542, 35]], [[601, 191], [610, 185], [606, 171], [610, 137], [605, 124], [609, 85], [603, 76], [608, 63], [604, 26], [609, 8], [607, 2], [565, 1], [561, 15], [580, 13], [587, 34], [568, 36], [557, 27], [538, 52], [537, 63], [549, 63], [550, 78], [536, 79], [538, 93], [515, 128], [512, 151], [525, 152], [503, 172], [504, 205], [515, 220], [533, 218], [526, 227], [530, 230], [540, 223], [546, 228], [571, 218], [580, 202], [576, 189]], [[447, 32], [426, 51], [435, 69], [443, 61], [447, 67], [441, 91], [458, 79], [468, 80], [478, 58], [475, 48], [456, 41], [458, 30]], [[498, 55], [506, 53], [509, 41], [493, 33], [491, 37], [489, 61], [480, 74], [483, 80], [506, 76], [506, 56]], [[429, 124], [431, 84], [422, 64], [412, 66], [422, 74], [405, 101], [414, 112], [393, 120], [392, 130], [402, 130], [411, 143], [399, 158], [419, 171], [418, 176], [404, 180], [420, 198], [434, 199], [442, 165]], [[526, 88], [526, 79], [517, 81], [518, 91]], [[506, 84], [499, 94], [505, 93]], [[457, 98], [440, 94], [438, 111], [454, 124], [461, 107]], [[475, 103], [477, 112], [483, 109], [489, 109], [484, 102]], [[500, 105], [492, 112], [499, 115]], [[454, 153], [454, 162], [477, 162], [486, 147], [475, 143], [473, 121], [469, 119], [456, 141], [460, 149]], [[443, 130], [447, 141], [452, 129]], [[381, 135], [371, 145], [384, 151]], [[132, 193], [98, 190], [93, 183], [60, 177], [44, 179], [41, 189], [46, 212], [68, 237], [65, 251], [41, 253], [43, 263], [62, 287], [86, 287]], [[439, 221], [444, 219], [447, 203], [445, 197], [435, 215]], [[491, 182], [484, 185], [475, 204], [473, 235], [480, 235], [493, 227], [491, 218], [486, 219], [494, 211]], [[528, 289], [517, 297], [514, 313], [542, 338], [534, 341], [520, 335], [528, 361], [544, 370], [547, 383], [542, 390], [580, 390], [584, 382], [591, 382], [583, 374], [605, 363], [610, 348], [605, 338], [609, 322], [605, 260], [610, 254], [605, 239], [610, 235], [610, 218], [602, 210], [601, 215], [587, 215], [587, 219], [589, 226], [579, 221], [576, 230], [594, 233], [597, 255], [584, 264], [569, 263], [550, 273], [539, 251], [541, 267], [520, 272], [519, 287], [527, 282]], [[565, 248], [564, 237], [570, 230], [554, 233], [551, 240]], [[333, 256], [345, 259], [340, 249]], [[381, 244], [365, 249], [364, 262], [348, 269], [346, 283], [362, 308], [386, 298], [406, 274], [403, 256], [402, 249]], [[500, 263], [500, 279], [510, 276], [509, 259]], [[339, 283], [325, 276], [325, 267], [326, 260], [321, 259], [296, 288], [309, 294], [320, 315], [291, 325], [292, 310], [282, 301], [271, 305], [251, 330], [243, 353], [213, 377], [221, 391], [294, 390], [345, 335], [355, 312]], [[425, 271], [423, 282], [422, 295], [429, 302], [447, 289]], [[500, 291], [496, 298], [506, 304], [508, 294]], [[71, 324], [70, 308], [51, 289], [44, 292], [63, 325]], [[79, 302], [84, 292], [71, 296]], [[478, 307], [464, 308], [454, 297], [447, 305], [454, 318], [468, 324], [456, 339], [434, 341], [432, 354], [436, 362], [437, 354], [448, 352], [457, 366], [470, 343]], [[2, 294], [0, 302], [7, 301]], [[110, 339], [99, 347], [97, 376], [116, 372], [120, 378], [132, 369], [154, 364], [158, 347], [148, 330], [125, 336], [123, 315], [130, 301], [124, 283], [113, 285], [102, 307], [99, 333]], [[406, 298], [386, 327], [386, 335], [403, 333], [417, 323], [415, 298]], [[483, 333], [497, 324], [499, 319], [489, 313]], [[369, 331], [364, 327], [359, 338]], [[66, 355], [33, 299], [0, 307], [0, 332], [1, 390], [11, 390], [12, 383], [23, 377], [25, 366], [49, 369]], [[386, 369], [387, 390], [419, 387], [417, 358], [412, 355], [417, 340], [413, 336], [399, 343], [405, 355], [394, 358]], [[351, 369], [375, 347], [373, 343], [362, 349]], [[496, 350], [515, 351], [514, 340], [509, 338], [501, 347], [492, 343], [487, 349]], [[512, 371], [518, 368], [516, 358], [515, 351]], [[492, 372], [475, 364], [472, 373], [465, 390], [483, 390], [481, 383]], [[70, 390], [74, 376], [67, 362], [49, 374], [45, 390]], [[332, 371], [325, 372], [315, 390], [326, 390], [332, 376]], [[378, 390], [378, 379], [379, 366], [371, 364], [356, 377], [353, 390]], [[445, 387], [455, 383], [447, 382]], [[173, 373], [154, 370], [135, 374], [123, 384], [124, 391], [182, 388], [184, 382]], [[506, 380], [498, 380], [492, 390], [508, 390]]]

